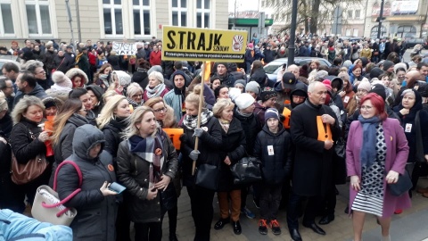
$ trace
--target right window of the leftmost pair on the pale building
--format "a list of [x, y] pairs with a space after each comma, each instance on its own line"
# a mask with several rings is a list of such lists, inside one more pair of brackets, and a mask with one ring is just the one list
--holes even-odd
[[26, 0], [25, 9], [29, 36], [52, 35], [49, 0]]

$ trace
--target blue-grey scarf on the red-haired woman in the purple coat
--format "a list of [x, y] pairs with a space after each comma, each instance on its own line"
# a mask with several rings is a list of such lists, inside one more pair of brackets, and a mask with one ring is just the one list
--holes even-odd
[[359, 152], [359, 159], [362, 166], [371, 166], [376, 161], [376, 127], [381, 120], [378, 116], [364, 119], [362, 115], [358, 116], [359, 122], [363, 125], [363, 146]]

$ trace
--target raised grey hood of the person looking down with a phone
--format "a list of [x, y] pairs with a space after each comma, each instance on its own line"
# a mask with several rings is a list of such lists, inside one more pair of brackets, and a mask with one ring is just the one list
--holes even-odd
[[95, 128], [93, 125], [85, 124], [78, 127], [74, 132], [73, 137], [73, 154], [76, 154], [78, 158], [83, 160], [94, 160], [89, 155], [89, 151], [97, 144], [101, 144], [101, 150], [98, 153], [103, 152], [104, 147], [104, 134], [100, 129]]

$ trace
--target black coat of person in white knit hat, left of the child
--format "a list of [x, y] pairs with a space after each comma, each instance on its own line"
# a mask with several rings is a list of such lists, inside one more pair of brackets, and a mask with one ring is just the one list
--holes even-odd
[[246, 117], [235, 110], [234, 117], [241, 122], [243, 132], [245, 133], [245, 150], [247, 154], [252, 156], [254, 152], [254, 143], [262, 125], [259, 123], [259, 119], [254, 113]]

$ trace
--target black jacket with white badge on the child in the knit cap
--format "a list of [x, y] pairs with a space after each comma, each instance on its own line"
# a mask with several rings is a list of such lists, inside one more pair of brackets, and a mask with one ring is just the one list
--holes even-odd
[[[272, 145], [273, 153], [269, 154], [268, 146]], [[279, 123], [277, 133], [269, 131], [267, 125], [257, 135], [254, 145], [254, 156], [261, 161], [261, 174], [266, 184], [281, 184], [292, 171], [292, 137]]]

